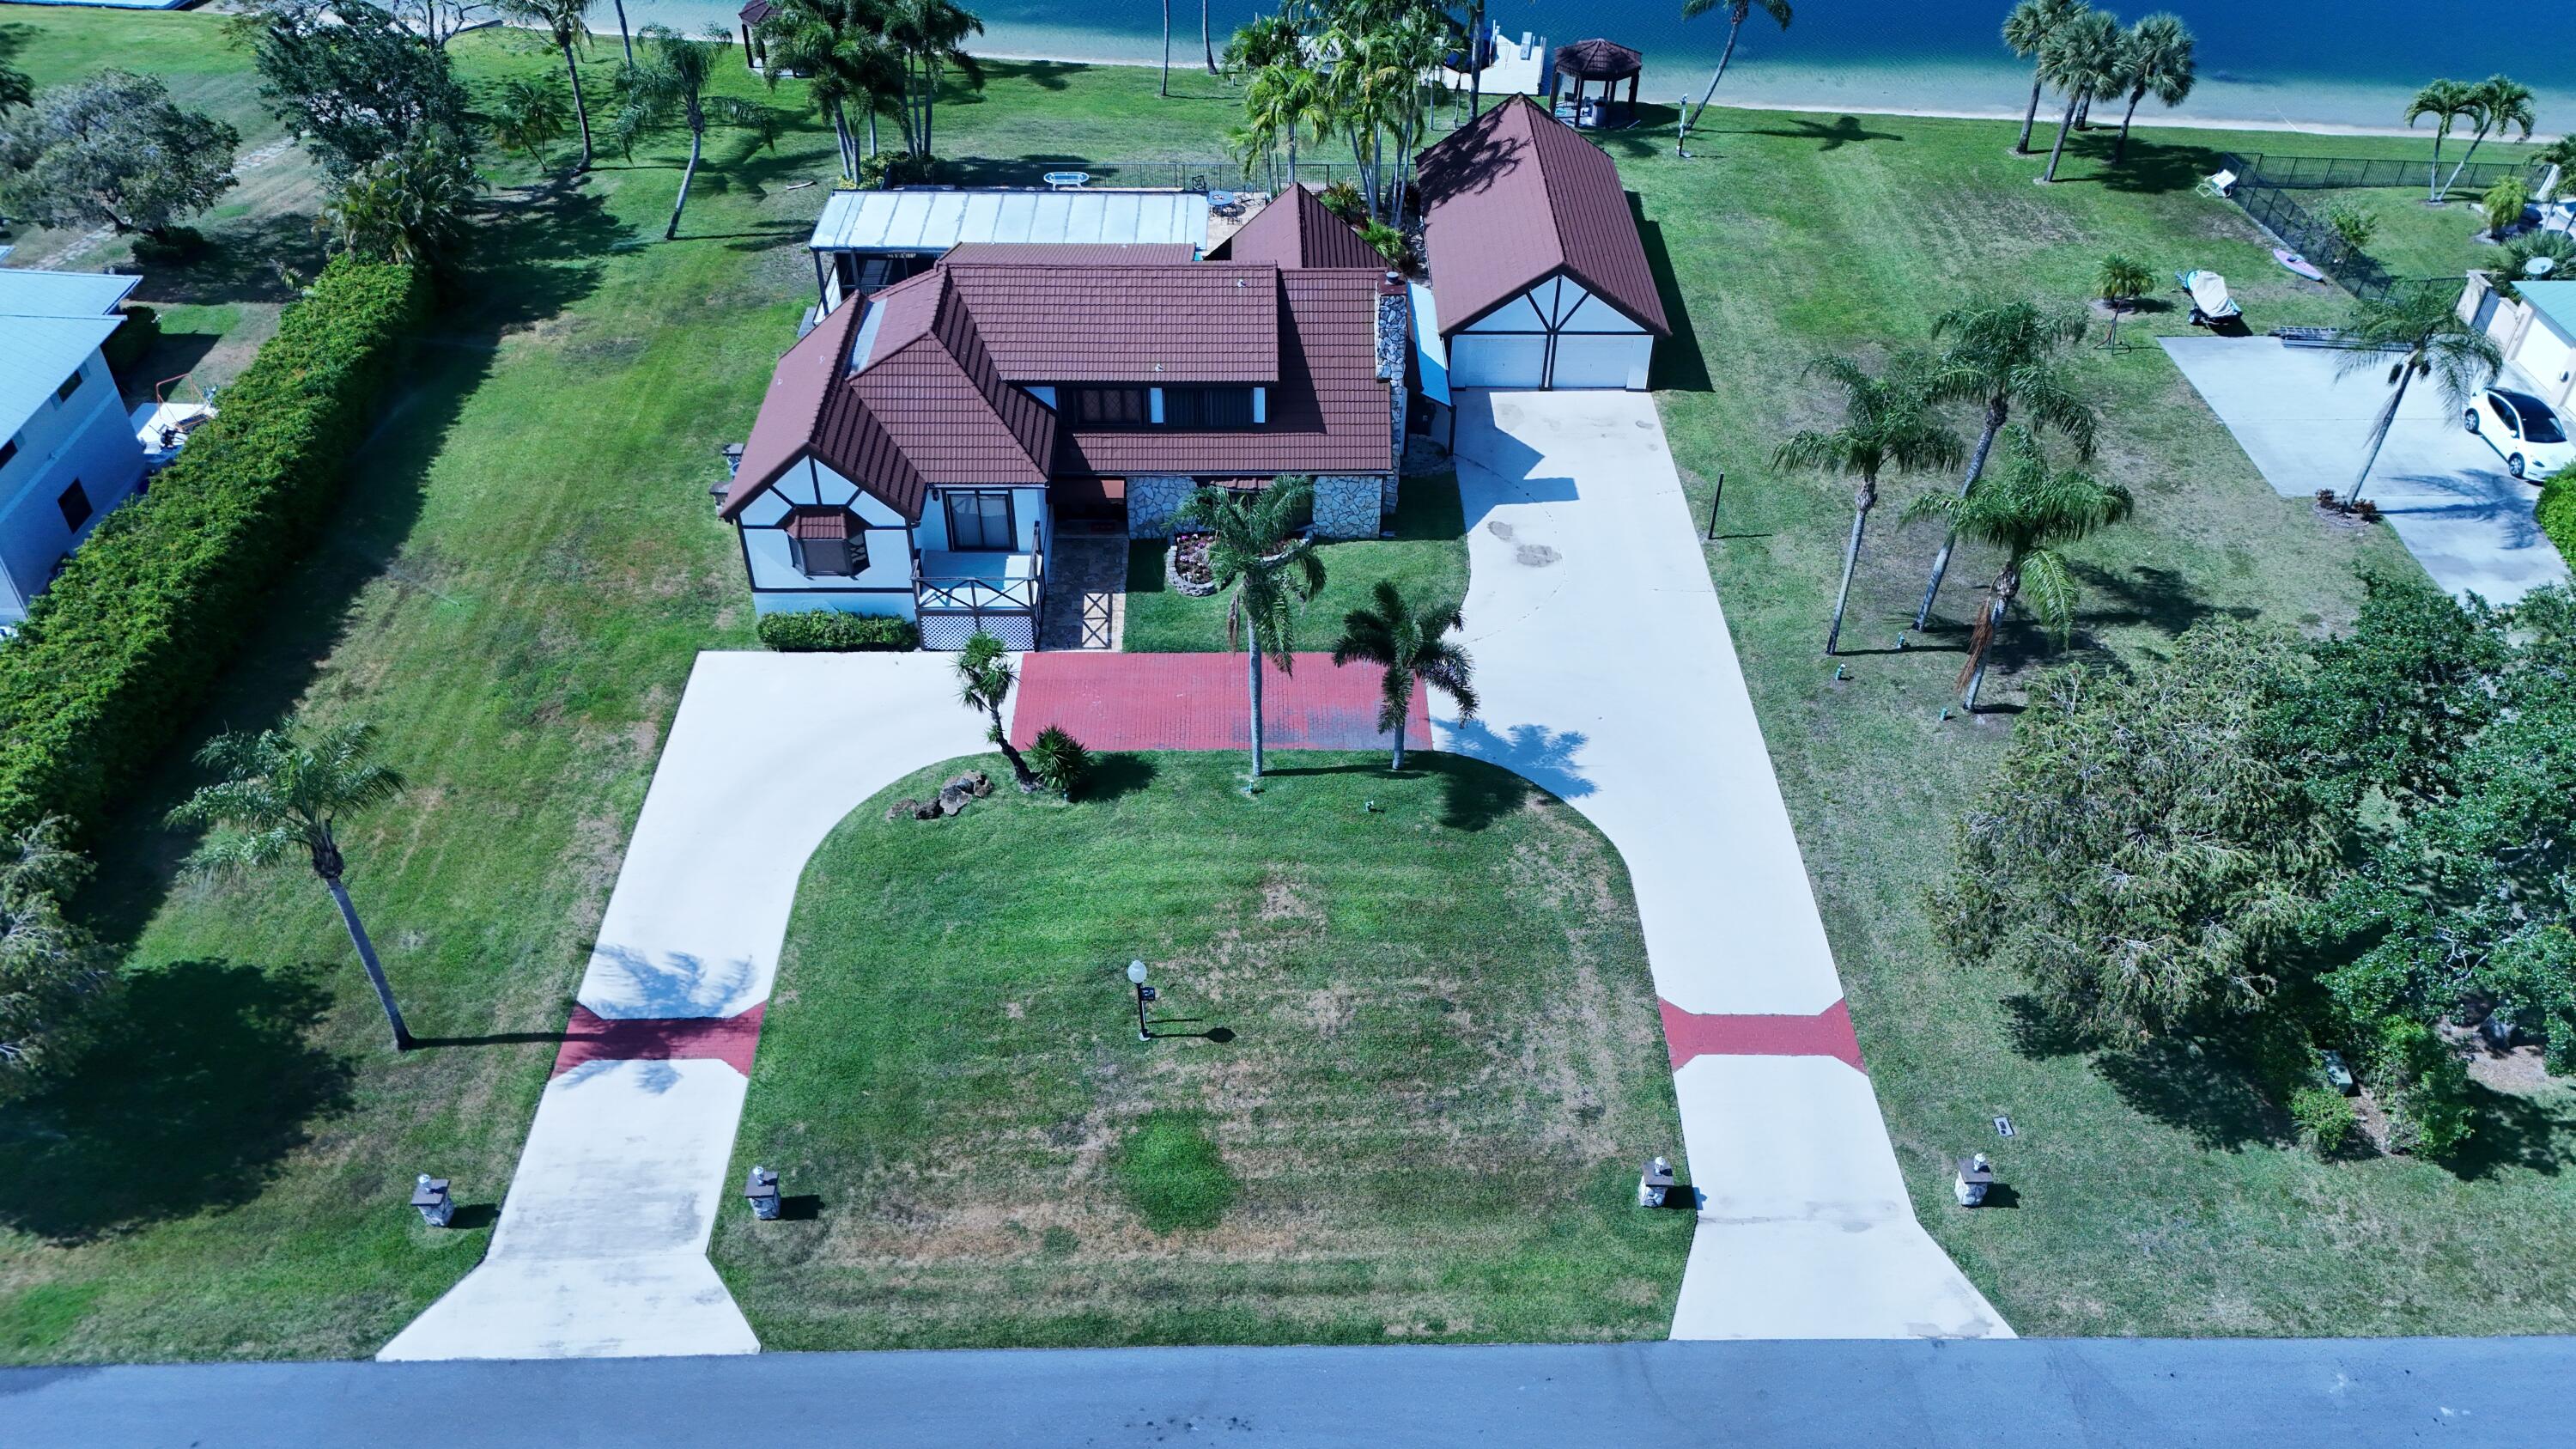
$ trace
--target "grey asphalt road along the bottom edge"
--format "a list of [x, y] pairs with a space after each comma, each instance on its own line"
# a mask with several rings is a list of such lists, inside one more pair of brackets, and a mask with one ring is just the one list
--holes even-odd
[[1092, 1348], [0, 1372], [0, 1444], [2553, 1444], [2576, 1341]]

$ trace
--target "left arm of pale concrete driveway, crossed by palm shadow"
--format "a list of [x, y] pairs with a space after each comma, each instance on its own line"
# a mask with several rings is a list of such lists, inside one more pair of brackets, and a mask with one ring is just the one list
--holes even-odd
[[706, 1261], [734, 1191], [744, 1016], [822, 838], [984, 748], [953, 655], [698, 655], [582, 977], [608, 1029], [546, 1083], [482, 1266], [379, 1359], [760, 1351]]

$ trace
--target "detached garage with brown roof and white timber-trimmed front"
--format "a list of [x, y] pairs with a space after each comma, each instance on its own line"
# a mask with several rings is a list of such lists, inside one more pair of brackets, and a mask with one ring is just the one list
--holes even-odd
[[1422, 219], [1432, 400], [1445, 387], [1646, 387], [1672, 325], [1600, 147], [1512, 95], [1422, 152]]

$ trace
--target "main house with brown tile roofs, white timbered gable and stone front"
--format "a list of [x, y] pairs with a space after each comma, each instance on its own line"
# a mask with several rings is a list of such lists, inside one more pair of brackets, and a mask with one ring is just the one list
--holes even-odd
[[1296, 204], [1257, 222], [1229, 260], [976, 240], [827, 309], [781, 358], [719, 511], [757, 611], [894, 614], [927, 647], [989, 629], [1028, 650], [1059, 526], [1167, 536], [1203, 482], [1311, 474], [1319, 536], [1378, 536], [1406, 289], [1376, 253], [1340, 266], [1365, 245], [1309, 235]]

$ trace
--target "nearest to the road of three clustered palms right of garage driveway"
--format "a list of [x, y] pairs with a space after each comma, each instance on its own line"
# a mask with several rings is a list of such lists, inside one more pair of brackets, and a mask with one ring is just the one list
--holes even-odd
[[1971, 712], [1976, 691], [1986, 683], [1994, 632], [2012, 601], [2027, 598], [2030, 611], [2063, 647], [2074, 624], [2076, 585], [2058, 549], [2128, 518], [2136, 508], [2128, 487], [2117, 482], [2050, 469], [2040, 441], [2020, 423], [2007, 433], [2004, 454], [2004, 469], [1986, 487], [1968, 495], [1932, 492], [1906, 508], [1909, 521], [1942, 518], [1953, 534], [1968, 534], [2004, 552], [2002, 572], [1986, 585], [1986, 611], [1968, 634], [1968, 663], [1958, 670], [1960, 704]]

